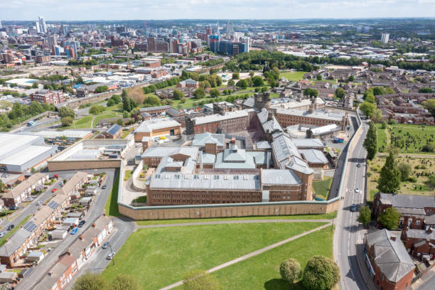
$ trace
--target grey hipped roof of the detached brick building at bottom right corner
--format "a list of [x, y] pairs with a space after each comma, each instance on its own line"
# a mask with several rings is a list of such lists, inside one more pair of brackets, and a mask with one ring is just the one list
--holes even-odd
[[391, 239], [388, 230], [377, 230], [365, 235], [369, 247], [375, 247], [375, 264], [382, 274], [392, 282], [397, 282], [409, 272], [414, 271], [415, 265], [407, 253], [399, 237]]

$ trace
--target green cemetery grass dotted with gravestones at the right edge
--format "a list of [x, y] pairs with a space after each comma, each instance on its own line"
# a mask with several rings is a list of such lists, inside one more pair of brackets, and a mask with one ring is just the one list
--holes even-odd
[[380, 152], [385, 152], [387, 145], [392, 144], [400, 149], [400, 153], [424, 154], [421, 148], [435, 142], [434, 126], [396, 124], [382, 129], [381, 124], [377, 124], [376, 128], [377, 148]]

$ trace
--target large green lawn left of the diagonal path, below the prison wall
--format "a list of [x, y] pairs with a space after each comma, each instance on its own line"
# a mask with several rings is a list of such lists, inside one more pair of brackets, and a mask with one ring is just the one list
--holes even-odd
[[[183, 279], [192, 269], [210, 269], [322, 222], [273, 222], [139, 229], [102, 273], [107, 280], [130, 274], [142, 289], [159, 289]], [[331, 247], [326, 243], [328, 247]]]

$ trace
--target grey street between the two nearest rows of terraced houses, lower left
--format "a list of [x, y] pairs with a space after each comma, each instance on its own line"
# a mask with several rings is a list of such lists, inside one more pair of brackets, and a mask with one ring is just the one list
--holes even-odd
[[[72, 172], [72, 171], [70, 171]], [[102, 172], [102, 170], [95, 171]], [[85, 216], [86, 224], [84, 227], [80, 227], [78, 232], [75, 235], [68, 235], [65, 237], [63, 242], [53, 249], [47, 257], [45, 257], [38, 266], [35, 267], [33, 272], [25, 279], [21, 280], [21, 282], [16, 286], [16, 289], [27, 290], [33, 289], [33, 286], [38, 283], [43, 278], [43, 275], [53, 266], [53, 264], [58, 260], [60, 254], [63, 254], [66, 249], [79, 237], [79, 235], [87, 229], [87, 227], [92, 226], [92, 222], [96, 220], [100, 215], [102, 215], [104, 210], [104, 205], [106, 204], [106, 200], [109, 196], [110, 190], [112, 189], [112, 184], [114, 180], [114, 169], [104, 169], [104, 172], [107, 173], [107, 177], [104, 180], [103, 185], [107, 185], [107, 188], [101, 190], [101, 192], [97, 195], [95, 200], [92, 202], [90, 206], [90, 210], [88, 210], [87, 215]], [[89, 173], [94, 173], [93, 171], [89, 171]]]

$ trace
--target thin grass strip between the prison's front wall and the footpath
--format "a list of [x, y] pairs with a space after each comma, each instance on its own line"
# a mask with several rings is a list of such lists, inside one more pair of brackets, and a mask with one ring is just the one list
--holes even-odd
[[326, 215], [273, 215], [266, 217], [245, 217], [245, 218], [193, 218], [178, 220], [137, 220], [137, 225], [166, 225], [187, 222], [220, 222], [223, 220], [324, 220], [332, 219], [337, 216], [337, 212], [327, 213]]

